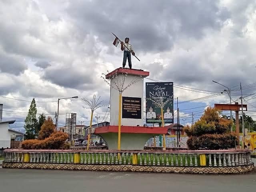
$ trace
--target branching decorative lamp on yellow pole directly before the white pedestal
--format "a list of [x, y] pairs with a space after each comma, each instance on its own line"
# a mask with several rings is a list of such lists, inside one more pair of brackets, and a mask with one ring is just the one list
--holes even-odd
[[[106, 80], [106, 74], [102, 73], [105, 77], [101, 76], [101, 78], [110, 85], [113, 89], [117, 90], [119, 92], [119, 111], [118, 111], [118, 150], [121, 149], [121, 108], [122, 108], [122, 93], [124, 90], [128, 89], [133, 84], [139, 82], [142, 80], [142, 76], [140, 77], [134, 77], [127, 85], [124, 85], [124, 82], [126, 80], [127, 73], [123, 73], [122, 78], [118, 78], [117, 73], [114, 74], [111, 79]], [[110, 81], [112, 84], [110, 84]]]

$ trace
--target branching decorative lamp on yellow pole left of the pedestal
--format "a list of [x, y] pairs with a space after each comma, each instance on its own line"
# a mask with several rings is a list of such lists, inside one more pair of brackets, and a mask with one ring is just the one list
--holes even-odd
[[[102, 104], [102, 102], [104, 102], [104, 101], [100, 100], [100, 96], [98, 99], [96, 99], [96, 95], [93, 95], [92, 100], [87, 100], [85, 98], [82, 98], [82, 100], [86, 103], [87, 106], [89, 106], [89, 108], [91, 110], [91, 120], [90, 120], [90, 127], [88, 128], [88, 142], [87, 142], [87, 150], [89, 150], [93, 112], [100, 107], [108, 106], [108, 104], [107, 105]], [[97, 122], [98, 122], [98, 119], [97, 119]], [[89, 130], [90, 130], [90, 132], [89, 132]]]

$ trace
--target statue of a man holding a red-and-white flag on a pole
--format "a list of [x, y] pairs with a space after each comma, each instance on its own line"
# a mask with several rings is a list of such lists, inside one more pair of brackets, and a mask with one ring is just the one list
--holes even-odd
[[[114, 36], [116, 36], [114, 33], [112, 33]], [[124, 42], [120, 41], [119, 38], [116, 36], [113, 45], [118, 46], [119, 42], [121, 42], [121, 50], [124, 51], [124, 57], [123, 57], [123, 68], [126, 65], [126, 60], [128, 59], [128, 65], [129, 68], [132, 69], [132, 60], [131, 60], [131, 53], [133, 56], [135, 56], [135, 53], [133, 51], [132, 45], [129, 44], [129, 38], [126, 37]], [[136, 57], [136, 56], [135, 56]], [[137, 58], [137, 57], [136, 57]], [[138, 59], [138, 58], [137, 58]], [[138, 59], [139, 60], [139, 59]], [[140, 61], [140, 60], [139, 60]]]

